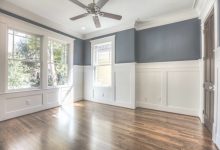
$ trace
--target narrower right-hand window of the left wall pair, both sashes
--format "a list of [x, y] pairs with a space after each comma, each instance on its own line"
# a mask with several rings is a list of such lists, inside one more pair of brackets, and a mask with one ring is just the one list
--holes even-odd
[[68, 44], [48, 41], [48, 86], [68, 83]]

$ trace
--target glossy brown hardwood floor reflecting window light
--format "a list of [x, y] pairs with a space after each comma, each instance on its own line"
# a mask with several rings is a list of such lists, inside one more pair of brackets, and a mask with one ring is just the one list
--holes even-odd
[[216, 150], [198, 118], [81, 101], [0, 122], [0, 150]]

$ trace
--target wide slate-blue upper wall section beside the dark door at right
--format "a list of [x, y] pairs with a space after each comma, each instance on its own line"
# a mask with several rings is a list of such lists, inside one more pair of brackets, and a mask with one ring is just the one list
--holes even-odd
[[200, 20], [191, 19], [136, 32], [136, 62], [201, 58]]

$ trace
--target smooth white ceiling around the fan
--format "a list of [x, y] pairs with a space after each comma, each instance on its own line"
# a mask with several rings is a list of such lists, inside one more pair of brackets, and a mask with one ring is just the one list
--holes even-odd
[[[160, 15], [192, 9], [194, 0], [109, 0], [102, 11], [122, 15], [121, 21], [100, 17], [102, 28], [96, 29], [91, 16], [77, 21], [69, 18], [85, 13], [69, 0], [5, 0], [26, 9], [38, 16], [44, 17], [57, 24], [71, 28], [79, 34], [88, 34], [97, 30], [134, 24], [137, 19], [146, 20]], [[79, 0], [89, 4], [92, 0]], [[85, 30], [81, 28], [85, 27]]]

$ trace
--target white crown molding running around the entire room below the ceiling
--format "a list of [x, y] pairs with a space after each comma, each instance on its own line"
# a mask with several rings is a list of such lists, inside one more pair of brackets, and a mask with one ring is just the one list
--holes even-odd
[[192, 18], [197, 18], [201, 16], [200, 14], [202, 10], [205, 8], [207, 2], [209, 1], [215, 1], [215, 0], [194, 0], [192, 9], [172, 12], [172, 13], [169, 13], [163, 16], [156, 16], [156, 17], [148, 18], [148, 20], [144, 20], [144, 21], [130, 20], [129, 22], [123, 23], [121, 25], [103, 29], [103, 30], [94, 31], [88, 34], [75, 33], [74, 31], [71, 30], [71, 27], [67, 27], [65, 25], [54, 23], [46, 18], [40, 17], [28, 10], [22, 9], [6, 1], [0, 1], [0, 8], [7, 10], [9, 12], [12, 12], [16, 15], [33, 20], [35, 22], [42, 23], [45, 26], [62, 31], [76, 38], [86, 40], [86, 39], [92, 39], [95, 37], [108, 35], [108, 34], [116, 33], [116, 32], [127, 30], [127, 29], [132, 29], [132, 28], [135, 28], [136, 30], [143, 30], [147, 28], [152, 28], [152, 27], [180, 22], [180, 21], [184, 21], [184, 20], [188, 20]]

